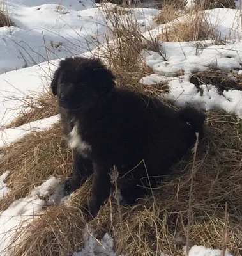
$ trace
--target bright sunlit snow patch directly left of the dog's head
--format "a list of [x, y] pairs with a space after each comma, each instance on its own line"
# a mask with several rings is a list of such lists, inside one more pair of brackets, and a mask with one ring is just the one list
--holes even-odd
[[45, 62], [0, 75], [0, 130], [19, 115], [26, 97], [36, 99], [47, 92], [58, 63], [59, 60]]

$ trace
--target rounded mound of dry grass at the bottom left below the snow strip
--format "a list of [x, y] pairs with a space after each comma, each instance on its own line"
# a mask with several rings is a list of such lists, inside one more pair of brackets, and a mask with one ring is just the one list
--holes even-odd
[[[66, 204], [51, 207], [27, 227], [24, 243], [11, 248], [11, 255], [69, 255], [81, 248], [85, 223], [79, 207]], [[16, 234], [16, 240], [19, 235]]]

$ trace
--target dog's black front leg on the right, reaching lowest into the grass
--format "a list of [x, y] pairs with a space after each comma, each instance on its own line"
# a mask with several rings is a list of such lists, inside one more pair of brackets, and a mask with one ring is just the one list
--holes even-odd
[[111, 188], [109, 170], [108, 167], [102, 168], [94, 164], [93, 184], [89, 199], [89, 212], [93, 217], [98, 214], [101, 205], [109, 197]]

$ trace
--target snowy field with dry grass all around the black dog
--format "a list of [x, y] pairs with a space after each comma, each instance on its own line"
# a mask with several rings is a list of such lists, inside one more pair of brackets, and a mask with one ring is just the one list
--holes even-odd
[[[0, 256], [242, 255], [241, 5], [0, 0]], [[208, 117], [193, 159], [153, 195], [130, 207], [110, 196], [91, 221], [79, 208], [91, 180], [63, 196], [72, 152], [50, 93], [59, 60], [77, 55]]]

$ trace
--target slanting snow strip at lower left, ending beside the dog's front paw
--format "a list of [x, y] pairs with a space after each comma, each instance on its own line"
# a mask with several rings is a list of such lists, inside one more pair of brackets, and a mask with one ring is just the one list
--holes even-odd
[[26, 227], [27, 223], [33, 220], [34, 216], [38, 216], [45, 206], [45, 201], [40, 199], [38, 195], [46, 195], [50, 189], [56, 188], [59, 181], [50, 177], [41, 186], [35, 188], [30, 196], [20, 198], [13, 202], [5, 211], [0, 214], [0, 256], [8, 256], [11, 246], [19, 243], [13, 241], [13, 236], [20, 228]]

